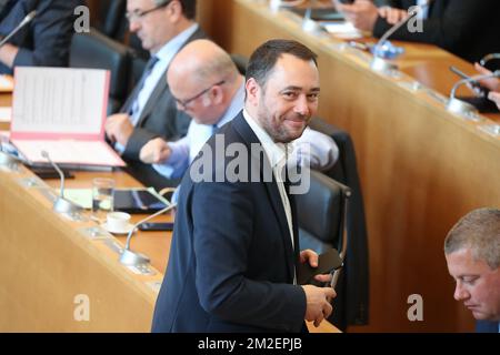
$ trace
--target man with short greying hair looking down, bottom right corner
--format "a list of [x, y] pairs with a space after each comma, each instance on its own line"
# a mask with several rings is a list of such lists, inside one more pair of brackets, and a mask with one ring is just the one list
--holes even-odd
[[500, 210], [479, 209], [448, 233], [444, 254], [454, 298], [478, 321], [478, 332], [500, 333]]

